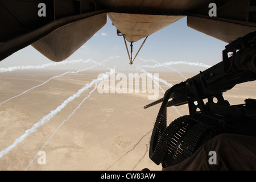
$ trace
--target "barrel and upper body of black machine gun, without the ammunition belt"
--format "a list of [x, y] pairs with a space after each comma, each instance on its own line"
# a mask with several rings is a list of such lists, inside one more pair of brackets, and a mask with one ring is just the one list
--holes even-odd
[[[233, 51], [233, 55], [228, 57], [230, 51]], [[222, 55], [220, 63], [181, 82], [171, 94], [167, 107], [188, 104], [190, 114], [199, 110], [210, 111], [213, 104], [225, 108], [230, 104], [222, 96], [223, 92], [242, 82], [256, 80], [256, 31], [228, 44]], [[208, 99], [208, 102], [204, 103], [204, 99]], [[163, 102], [163, 98], [144, 108], [160, 102]]]

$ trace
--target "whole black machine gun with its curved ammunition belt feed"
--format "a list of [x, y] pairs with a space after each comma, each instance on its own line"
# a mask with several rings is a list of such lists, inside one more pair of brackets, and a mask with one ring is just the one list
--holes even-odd
[[[144, 106], [146, 109], [162, 102], [152, 131], [150, 159], [163, 167], [173, 166], [220, 133], [255, 136], [256, 100], [250, 98], [245, 104], [231, 106], [222, 95], [237, 84], [254, 80], [256, 32], [251, 32], [225, 46], [220, 63], [172, 86], [163, 98]], [[167, 127], [167, 107], [184, 104], [188, 104], [189, 115]]]

